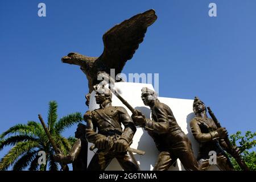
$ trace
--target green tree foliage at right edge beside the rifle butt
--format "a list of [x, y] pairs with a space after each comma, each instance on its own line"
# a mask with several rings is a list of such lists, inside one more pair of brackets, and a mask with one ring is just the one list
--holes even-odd
[[[237, 131], [236, 134], [230, 135], [230, 142], [238, 146], [241, 151], [241, 157], [250, 170], [256, 171], [256, 152], [254, 151], [256, 146], [256, 132], [246, 131], [245, 136], [241, 134], [241, 131]], [[241, 170], [234, 158], [231, 158], [231, 162], [236, 170]]]

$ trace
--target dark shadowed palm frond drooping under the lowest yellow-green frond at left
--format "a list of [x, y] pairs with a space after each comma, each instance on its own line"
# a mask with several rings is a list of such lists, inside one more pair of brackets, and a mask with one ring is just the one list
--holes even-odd
[[22, 171], [31, 162], [38, 151], [27, 151], [19, 160], [13, 165], [13, 171]]

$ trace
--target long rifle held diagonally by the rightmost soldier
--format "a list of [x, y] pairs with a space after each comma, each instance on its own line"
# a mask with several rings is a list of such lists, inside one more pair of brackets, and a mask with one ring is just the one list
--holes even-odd
[[[207, 107], [207, 109], [208, 109], [208, 113], [209, 113], [210, 117], [212, 117], [212, 119], [213, 119], [215, 125], [216, 125], [218, 128], [220, 128], [220, 127], [221, 127], [220, 122], [218, 122], [218, 119], [217, 119], [217, 118], [215, 117], [215, 115], [213, 114], [213, 111], [210, 109], [210, 107]], [[229, 138], [226, 137], [226, 138], [224, 138], [224, 140], [225, 140], [225, 142], [226, 142], [228, 148], [229, 148], [230, 151], [231, 151], [234, 146], [233, 146], [232, 143], [230, 142]], [[246, 165], [245, 162], [243, 162], [243, 160], [242, 160], [242, 158], [241, 158], [240, 155], [234, 155], [234, 154], [231, 154], [231, 155], [233, 156], [234, 159], [236, 159], [236, 161], [237, 161], [238, 165], [241, 167], [241, 169], [243, 169], [244, 171], [250, 171], [249, 167]]]

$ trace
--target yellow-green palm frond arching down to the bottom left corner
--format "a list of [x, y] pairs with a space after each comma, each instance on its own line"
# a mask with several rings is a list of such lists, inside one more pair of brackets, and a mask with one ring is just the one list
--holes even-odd
[[27, 142], [18, 142], [16, 145], [11, 148], [11, 150], [6, 154], [0, 162], [0, 170], [5, 171], [14, 162], [22, 155], [24, 152], [29, 151], [31, 148], [38, 147], [39, 142], [37, 141], [27, 141]]

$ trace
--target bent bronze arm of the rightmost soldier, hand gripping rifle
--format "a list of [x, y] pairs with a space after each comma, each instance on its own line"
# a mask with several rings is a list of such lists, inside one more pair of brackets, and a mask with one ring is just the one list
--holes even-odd
[[200, 122], [196, 121], [196, 119], [192, 119], [190, 122], [190, 129], [197, 142], [203, 143], [218, 139], [217, 131], [202, 133], [200, 129]]

